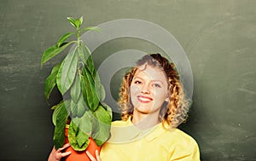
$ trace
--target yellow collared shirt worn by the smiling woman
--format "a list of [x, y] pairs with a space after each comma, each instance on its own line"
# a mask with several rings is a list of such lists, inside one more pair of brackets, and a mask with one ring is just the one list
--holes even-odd
[[115, 121], [111, 137], [102, 146], [102, 161], [199, 161], [196, 141], [180, 129], [165, 129], [162, 124], [141, 130], [131, 120]]

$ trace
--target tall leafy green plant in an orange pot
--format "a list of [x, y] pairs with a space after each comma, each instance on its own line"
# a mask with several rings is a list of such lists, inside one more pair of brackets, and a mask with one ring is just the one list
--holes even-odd
[[[49, 77], [46, 78], [44, 95], [49, 101], [55, 86], [62, 95], [62, 100], [52, 106], [55, 148], [62, 147], [68, 141], [71, 144], [68, 150], [73, 152], [67, 160], [69, 158], [73, 160], [74, 153], [84, 155], [81, 158], [86, 160], [87, 156], [84, 152], [86, 148], [96, 145], [99, 149], [108, 140], [112, 111], [103, 102], [105, 90], [96, 72], [90, 49], [80, 38], [83, 32], [100, 32], [100, 29], [98, 27], [81, 28], [83, 17], [79, 19], [67, 17], [67, 20], [76, 28], [75, 32], [64, 34], [42, 55], [41, 67], [72, 45], [65, 58], [52, 68]], [[67, 42], [73, 36], [76, 36], [75, 40]], [[87, 150], [90, 151], [90, 149]], [[90, 152], [94, 153], [95, 149]], [[76, 160], [79, 161], [79, 159]]]

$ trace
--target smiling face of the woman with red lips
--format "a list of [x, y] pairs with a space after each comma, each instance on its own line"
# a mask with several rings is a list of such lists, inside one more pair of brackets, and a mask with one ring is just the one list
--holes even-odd
[[130, 94], [134, 112], [155, 113], [167, 101], [166, 75], [158, 67], [139, 66], [131, 81]]

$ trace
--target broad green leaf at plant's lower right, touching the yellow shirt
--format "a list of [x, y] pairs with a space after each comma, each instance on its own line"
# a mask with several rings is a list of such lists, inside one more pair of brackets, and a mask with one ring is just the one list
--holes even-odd
[[97, 146], [102, 146], [104, 142], [108, 141], [112, 118], [102, 105], [97, 107], [94, 115], [96, 116], [96, 121], [93, 122], [92, 138], [96, 141]]

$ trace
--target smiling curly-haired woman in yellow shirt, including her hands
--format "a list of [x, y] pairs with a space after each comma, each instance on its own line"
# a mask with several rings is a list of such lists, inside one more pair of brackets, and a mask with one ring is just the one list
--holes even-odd
[[[189, 100], [166, 58], [152, 54], [138, 60], [126, 73], [119, 96], [122, 121], [113, 122], [100, 155], [93, 158], [86, 152], [91, 160], [200, 160], [195, 140], [177, 129], [187, 117]], [[54, 149], [49, 158], [69, 155], [61, 153], [63, 148]]]

